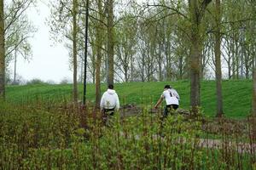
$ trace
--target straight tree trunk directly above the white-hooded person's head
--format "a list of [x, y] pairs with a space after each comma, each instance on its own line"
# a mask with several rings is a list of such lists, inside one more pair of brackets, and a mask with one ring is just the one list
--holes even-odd
[[108, 84], [113, 84], [113, 0], [107, 1], [108, 8]]

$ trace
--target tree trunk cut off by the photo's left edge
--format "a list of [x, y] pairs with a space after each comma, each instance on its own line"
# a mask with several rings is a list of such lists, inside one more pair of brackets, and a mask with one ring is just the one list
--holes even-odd
[[0, 100], [5, 99], [5, 49], [3, 0], [0, 0]]

